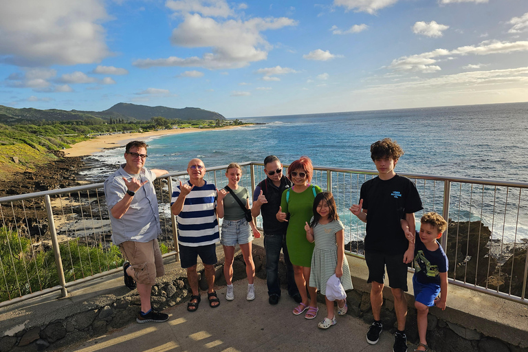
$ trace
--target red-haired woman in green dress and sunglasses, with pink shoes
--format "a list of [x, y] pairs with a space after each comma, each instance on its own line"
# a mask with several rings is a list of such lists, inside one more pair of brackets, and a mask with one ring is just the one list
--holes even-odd
[[[288, 221], [286, 245], [289, 259], [294, 265], [295, 283], [299, 289], [302, 302], [295, 307], [293, 313], [298, 316], [306, 310], [305, 318], [314, 319], [317, 316], [316, 287], [309, 287], [311, 255], [314, 243], [306, 239], [305, 224], [312, 217], [312, 207], [316, 194], [321, 192], [318, 186], [310, 184], [314, 175], [314, 166], [309, 157], [300, 157], [292, 162], [288, 168], [288, 177], [292, 181], [292, 188], [285, 190], [281, 199], [281, 207], [277, 212], [278, 221]], [[307, 294], [308, 289], [308, 294]]]

